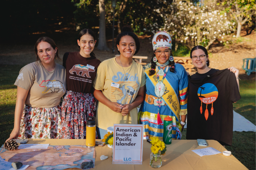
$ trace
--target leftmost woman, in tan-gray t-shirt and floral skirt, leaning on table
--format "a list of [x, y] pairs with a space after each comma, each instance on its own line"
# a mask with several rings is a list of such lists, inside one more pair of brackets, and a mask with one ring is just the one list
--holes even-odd
[[60, 103], [66, 92], [66, 71], [55, 63], [55, 59], [60, 59], [58, 48], [49, 37], [37, 40], [35, 54], [37, 61], [21, 68], [15, 81], [15, 122], [9, 139], [58, 139], [60, 135]]

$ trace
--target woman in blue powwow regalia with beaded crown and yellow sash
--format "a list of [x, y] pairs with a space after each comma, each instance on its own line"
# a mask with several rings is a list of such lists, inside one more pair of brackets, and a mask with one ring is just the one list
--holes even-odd
[[172, 118], [172, 139], [181, 139], [186, 122], [188, 77], [185, 68], [174, 62], [172, 39], [168, 32], [159, 31], [153, 39], [151, 63], [144, 66], [146, 94], [140, 111], [144, 139], [163, 139], [163, 120]]

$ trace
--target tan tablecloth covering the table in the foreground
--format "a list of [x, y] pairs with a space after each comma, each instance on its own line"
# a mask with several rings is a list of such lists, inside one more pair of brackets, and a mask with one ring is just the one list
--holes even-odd
[[[207, 140], [209, 147], [213, 147], [220, 152], [226, 150], [215, 140]], [[50, 144], [50, 145], [85, 145], [84, 139], [29, 139], [28, 144]], [[224, 156], [221, 154], [210, 156], [199, 156], [192, 152], [195, 149], [205, 147], [198, 146], [196, 140], [173, 140], [172, 144], [166, 145], [167, 151], [162, 156], [161, 170], [247, 170], [233, 155]], [[153, 168], [149, 165], [151, 144], [143, 142], [143, 164], [112, 164], [112, 149], [108, 146], [96, 146], [96, 170], [148, 170]], [[100, 156], [108, 156], [108, 159], [100, 160]], [[77, 168], [73, 168], [79, 170]]]

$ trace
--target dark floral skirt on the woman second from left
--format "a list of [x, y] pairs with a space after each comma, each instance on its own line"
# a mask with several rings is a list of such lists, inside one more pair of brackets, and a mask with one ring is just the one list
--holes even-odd
[[61, 106], [60, 138], [86, 139], [86, 119], [88, 116], [96, 116], [96, 106], [93, 94], [67, 91]]

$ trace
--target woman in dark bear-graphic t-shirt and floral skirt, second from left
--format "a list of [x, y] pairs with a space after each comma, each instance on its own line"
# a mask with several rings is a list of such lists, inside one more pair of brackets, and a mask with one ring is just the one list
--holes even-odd
[[83, 29], [77, 43], [80, 51], [65, 53], [63, 57], [67, 93], [61, 106], [61, 139], [86, 139], [86, 119], [96, 116], [92, 82], [100, 61], [92, 52], [96, 44], [93, 31]]

